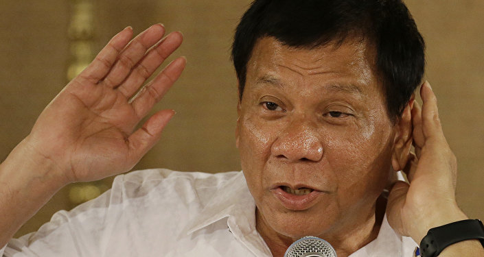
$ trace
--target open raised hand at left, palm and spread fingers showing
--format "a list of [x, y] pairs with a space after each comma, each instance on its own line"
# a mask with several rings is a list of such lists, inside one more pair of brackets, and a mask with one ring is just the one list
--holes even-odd
[[172, 110], [157, 112], [133, 130], [185, 67], [185, 58], [177, 58], [137, 93], [181, 45], [181, 33], [163, 38], [164, 33], [159, 24], [133, 40], [130, 27], [119, 32], [38, 117], [24, 141], [66, 183], [128, 171], [159, 139]]

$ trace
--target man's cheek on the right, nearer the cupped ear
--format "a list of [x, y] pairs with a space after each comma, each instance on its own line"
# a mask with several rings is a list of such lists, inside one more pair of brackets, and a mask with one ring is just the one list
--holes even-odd
[[338, 197], [373, 198], [387, 184], [392, 140], [388, 125], [369, 122], [328, 140], [326, 157], [338, 183]]

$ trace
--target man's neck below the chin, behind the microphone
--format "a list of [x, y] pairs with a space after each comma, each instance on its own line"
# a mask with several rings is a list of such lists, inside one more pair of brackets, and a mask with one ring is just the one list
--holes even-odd
[[[347, 257], [378, 236], [384, 217], [385, 204], [384, 199], [378, 199], [371, 215], [316, 236], [329, 242], [336, 250], [338, 257]], [[299, 238], [279, 234], [267, 224], [259, 210], [256, 209], [257, 232], [262, 236], [274, 257], [283, 257], [288, 247]]]

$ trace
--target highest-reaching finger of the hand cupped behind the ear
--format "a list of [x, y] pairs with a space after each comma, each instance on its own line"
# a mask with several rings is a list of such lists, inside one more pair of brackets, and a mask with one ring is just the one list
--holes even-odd
[[433, 93], [430, 84], [425, 82], [420, 88], [422, 97], [422, 132], [426, 140], [430, 138], [440, 139], [443, 136], [437, 108], [437, 97]]

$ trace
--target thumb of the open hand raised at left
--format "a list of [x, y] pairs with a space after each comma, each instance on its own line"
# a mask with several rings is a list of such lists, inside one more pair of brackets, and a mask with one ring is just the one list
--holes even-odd
[[161, 132], [165, 125], [172, 119], [175, 114], [174, 110], [161, 110], [153, 114], [143, 127], [136, 130], [128, 137], [128, 146], [130, 148], [129, 160], [136, 164], [146, 152], [159, 140]]

